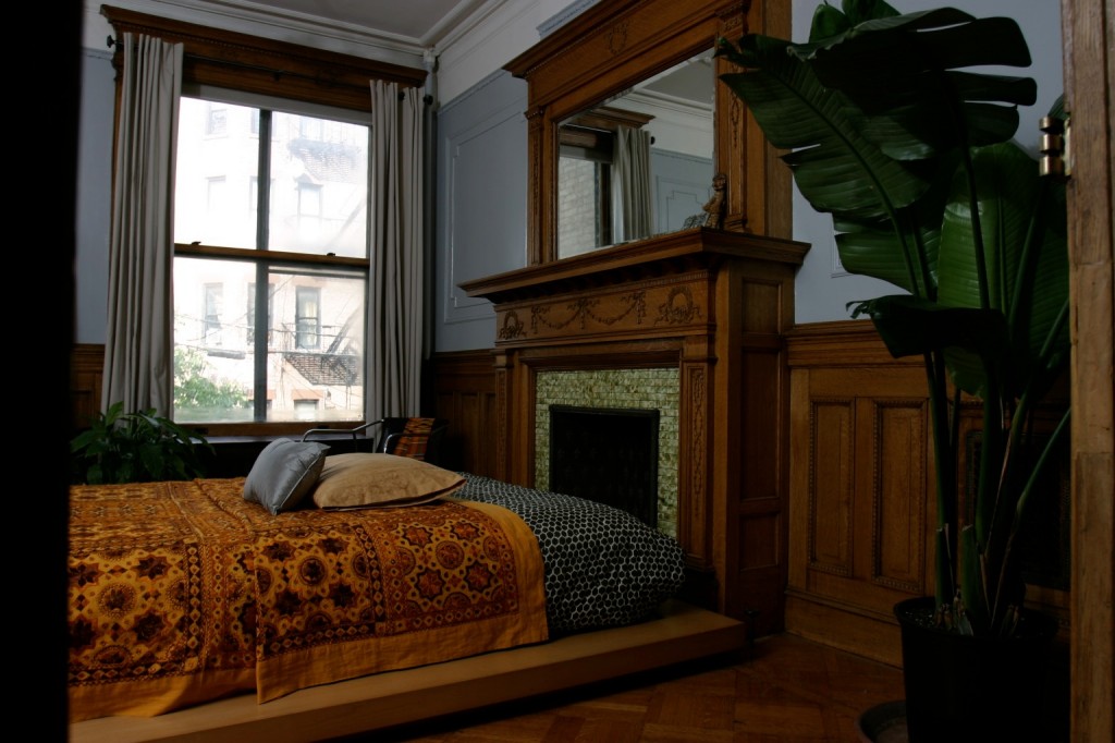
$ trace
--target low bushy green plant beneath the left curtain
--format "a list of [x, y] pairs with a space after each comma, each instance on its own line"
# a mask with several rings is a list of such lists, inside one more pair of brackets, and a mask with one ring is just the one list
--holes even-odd
[[201, 477], [198, 448], [212, 452], [213, 445], [154, 409], [124, 413], [124, 403], [114, 403], [70, 440], [70, 482], [97, 485]]

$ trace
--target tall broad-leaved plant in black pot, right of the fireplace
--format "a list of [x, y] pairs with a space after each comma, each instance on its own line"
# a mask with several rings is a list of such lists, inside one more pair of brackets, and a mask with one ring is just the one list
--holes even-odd
[[[1026, 687], [1004, 689], [1030, 663], [1016, 662], [1027, 636], [1047, 647], [1056, 631], [1050, 617], [1024, 608], [1018, 542], [1045, 496], [1039, 477], [1068, 436], [1067, 405], [1051, 431], [1034, 425], [1069, 360], [1065, 193], [1011, 139], [1017, 106], [1037, 97], [1034, 80], [967, 69], [1027, 66], [1026, 40], [1010, 18], [953, 8], [902, 15], [885, 2], [844, 0], [816, 9], [806, 44], [747, 35], [721, 39], [717, 56], [739, 67], [721, 79], [767, 139], [789, 151], [783, 160], [802, 195], [832, 214], [845, 270], [902, 290], [851, 303], [852, 316], [870, 317], [894, 357], [924, 358], [935, 597], [895, 607], [910, 740], [1032, 733], [1029, 713], [1040, 704]], [[1058, 100], [1051, 115], [1059, 113]], [[973, 399], [982, 425], [968, 517], [959, 421]], [[922, 604], [928, 618], [908, 616]], [[950, 649], [934, 645], [914, 658], [915, 633]], [[924, 684], [913, 677], [921, 660], [946, 656], [981, 665]], [[992, 668], [1008, 678], [990, 681]], [[1040, 694], [1040, 681], [1026, 684]], [[923, 686], [958, 696], [923, 702]], [[995, 739], [980, 737], [989, 731]]]

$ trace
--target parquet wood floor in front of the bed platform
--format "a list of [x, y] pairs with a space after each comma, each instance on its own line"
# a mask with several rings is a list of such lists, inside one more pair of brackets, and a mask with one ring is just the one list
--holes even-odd
[[347, 739], [349, 743], [854, 743], [856, 716], [901, 699], [902, 672], [793, 635], [535, 699]]

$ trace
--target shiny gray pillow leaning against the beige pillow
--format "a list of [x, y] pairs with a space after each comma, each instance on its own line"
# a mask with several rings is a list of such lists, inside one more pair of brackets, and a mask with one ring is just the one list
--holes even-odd
[[320, 442], [277, 438], [255, 457], [244, 481], [244, 500], [274, 514], [298, 508], [318, 483], [328, 451]]

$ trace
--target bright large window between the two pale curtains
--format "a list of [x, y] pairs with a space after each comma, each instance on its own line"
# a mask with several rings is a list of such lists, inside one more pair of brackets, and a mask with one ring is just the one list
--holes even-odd
[[176, 422], [363, 419], [369, 129], [358, 117], [215, 89], [182, 98]]

